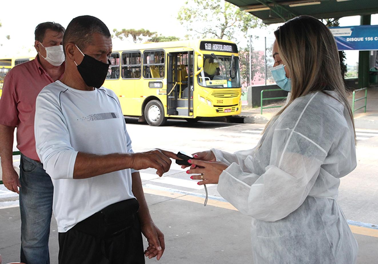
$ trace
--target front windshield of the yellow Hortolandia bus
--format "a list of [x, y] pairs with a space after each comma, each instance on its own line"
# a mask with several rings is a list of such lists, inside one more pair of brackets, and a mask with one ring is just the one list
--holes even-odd
[[211, 88], [239, 88], [239, 58], [204, 55], [203, 71], [198, 74], [198, 83]]

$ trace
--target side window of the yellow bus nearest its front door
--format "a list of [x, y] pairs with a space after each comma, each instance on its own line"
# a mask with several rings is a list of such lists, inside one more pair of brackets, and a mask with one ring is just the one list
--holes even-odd
[[145, 51], [143, 77], [146, 79], [164, 78], [164, 51]]

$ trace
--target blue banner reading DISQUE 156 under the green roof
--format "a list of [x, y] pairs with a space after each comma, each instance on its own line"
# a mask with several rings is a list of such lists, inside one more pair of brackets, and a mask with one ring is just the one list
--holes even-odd
[[339, 51], [378, 50], [378, 26], [344, 26], [330, 28]]

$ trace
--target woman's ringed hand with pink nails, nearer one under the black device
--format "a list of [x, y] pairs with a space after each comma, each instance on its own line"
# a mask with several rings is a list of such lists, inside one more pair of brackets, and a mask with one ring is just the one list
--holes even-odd
[[220, 174], [228, 167], [227, 164], [217, 161], [188, 160], [188, 162], [195, 168], [187, 170], [186, 173], [200, 174], [190, 177], [192, 180], [202, 180], [197, 183], [198, 185], [218, 183]]

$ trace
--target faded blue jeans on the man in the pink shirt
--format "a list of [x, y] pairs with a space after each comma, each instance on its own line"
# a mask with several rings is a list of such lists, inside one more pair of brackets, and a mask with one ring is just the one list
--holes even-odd
[[50, 264], [48, 238], [54, 187], [42, 163], [21, 154], [21, 262]]

